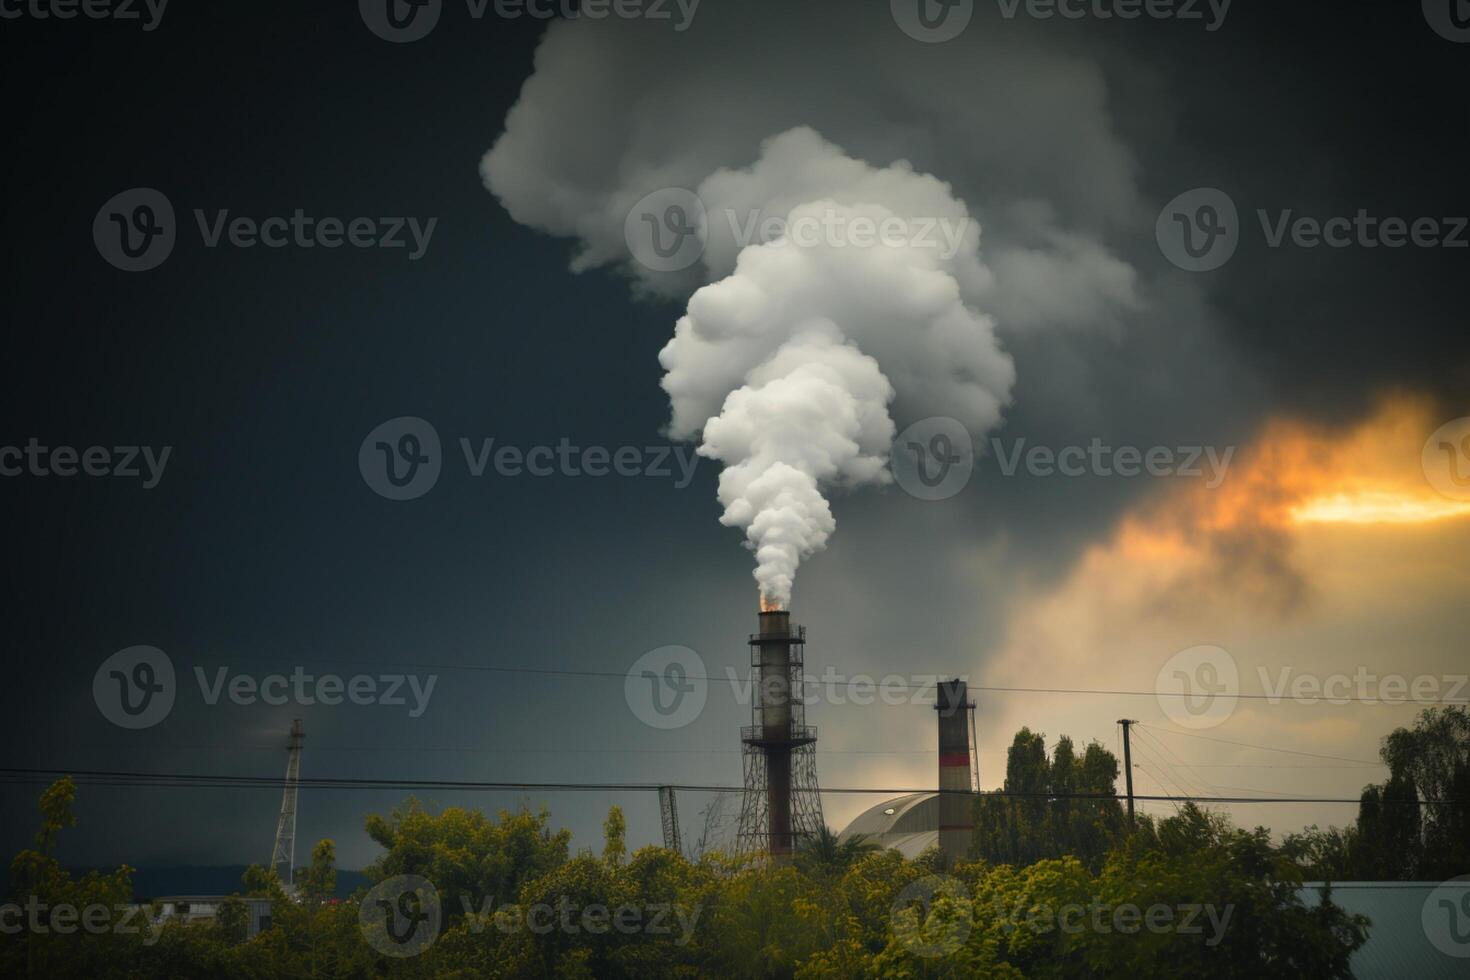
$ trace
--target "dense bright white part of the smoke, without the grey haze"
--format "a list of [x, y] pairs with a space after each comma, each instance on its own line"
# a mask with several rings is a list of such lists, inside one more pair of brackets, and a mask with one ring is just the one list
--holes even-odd
[[722, 522], [745, 529], [761, 597], [784, 605], [797, 564], [832, 533], [822, 489], [891, 479], [895, 394], [983, 432], [1014, 369], [991, 319], [961, 298], [961, 279], [989, 279], [979, 229], [932, 176], [870, 167], [792, 129], [698, 197], [714, 275], [729, 254], [722, 232], [750, 228], [744, 216], [778, 217], [781, 232], [691, 297], [660, 354], [670, 432], [703, 433], [700, 454], [725, 463]]

